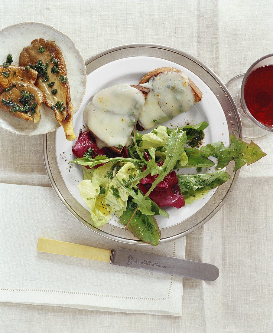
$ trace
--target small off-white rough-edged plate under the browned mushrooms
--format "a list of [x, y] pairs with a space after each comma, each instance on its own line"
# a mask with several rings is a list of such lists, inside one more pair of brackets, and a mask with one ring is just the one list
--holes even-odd
[[[11, 53], [13, 56], [12, 65], [18, 66], [19, 56], [23, 48], [31, 45], [30, 43], [37, 38], [53, 40], [60, 47], [66, 61], [71, 102], [75, 113], [85, 93], [86, 67], [74, 42], [61, 31], [37, 22], [24, 22], [2, 29], [0, 31], [0, 64], [2, 65], [6, 61], [7, 55]], [[55, 119], [54, 112], [42, 104], [39, 123], [34, 124], [16, 118], [0, 110], [0, 127], [16, 134], [38, 135], [55, 131], [60, 127], [60, 124]]]

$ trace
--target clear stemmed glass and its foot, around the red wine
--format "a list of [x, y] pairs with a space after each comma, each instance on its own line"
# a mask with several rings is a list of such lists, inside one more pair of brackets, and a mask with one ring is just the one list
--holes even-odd
[[[273, 65], [273, 54], [268, 54], [257, 61], [247, 70], [245, 74], [236, 75], [226, 84], [240, 114], [243, 136], [245, 138], [260, 138], [273, 132], [273, 126], [259, 122], [248, 110], [244, 98], [245, 83], [249, 75], [259, 67]], [[272, 92], [273, 94], [273, 92]]]

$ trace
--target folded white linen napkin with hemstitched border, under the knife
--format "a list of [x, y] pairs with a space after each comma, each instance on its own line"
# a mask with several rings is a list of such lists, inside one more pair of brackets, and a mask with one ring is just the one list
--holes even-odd
[[36, 251], [38, 237], [185, 258], [186, 237], [155, 247], [97, 235], [52, 188], [0, 183], [0, 301], [81, 309], [182, 314], [183, 278]]

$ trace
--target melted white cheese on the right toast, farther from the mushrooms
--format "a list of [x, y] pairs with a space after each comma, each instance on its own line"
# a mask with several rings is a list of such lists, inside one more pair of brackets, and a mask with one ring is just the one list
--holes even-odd
[[151, 89], [139, 117], [145, 129], [171, 120], [195, 104], [189, 78], [183, 72], [163, 72], [141, 86]]

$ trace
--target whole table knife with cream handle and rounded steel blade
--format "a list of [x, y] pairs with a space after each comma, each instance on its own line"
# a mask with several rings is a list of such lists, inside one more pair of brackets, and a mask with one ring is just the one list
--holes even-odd
[[211, 264], [124, 248], [106, 250], [40, 237], [37, 251], [99, 260], [109, 262], [111, 265], [148, 269], [206, 281], [214, 281], [219, 276], [219, 269]]

